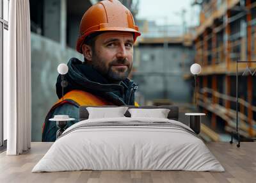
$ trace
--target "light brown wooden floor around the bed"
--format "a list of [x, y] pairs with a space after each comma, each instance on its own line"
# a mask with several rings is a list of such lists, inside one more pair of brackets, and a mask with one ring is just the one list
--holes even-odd
[[196, 171], [65, 171], [31, 173], [33, 166], [52, 143], [32, 143], [22, 155], [0, 154], [0, 182], [256, 182], [256, 143], [208, 143], [207, 147], [225, 168], [225, 172]]

